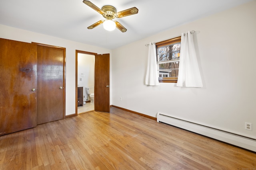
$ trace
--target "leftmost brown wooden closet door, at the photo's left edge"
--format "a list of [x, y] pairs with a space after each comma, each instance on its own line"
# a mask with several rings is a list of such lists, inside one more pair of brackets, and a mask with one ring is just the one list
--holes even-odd
[[0, 135], [36, 127], [36, 45], [0, 39]]

